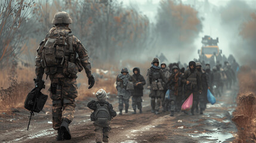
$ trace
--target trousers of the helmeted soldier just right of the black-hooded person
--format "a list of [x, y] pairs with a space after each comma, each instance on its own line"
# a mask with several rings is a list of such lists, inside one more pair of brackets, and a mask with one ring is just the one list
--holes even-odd
[[161, 101], [162, 101], [162, 94], [163, 91], [150, 91], [150, 97], [151, 97], [151, 107], [153, 110], [159, 110], [161, 107]]

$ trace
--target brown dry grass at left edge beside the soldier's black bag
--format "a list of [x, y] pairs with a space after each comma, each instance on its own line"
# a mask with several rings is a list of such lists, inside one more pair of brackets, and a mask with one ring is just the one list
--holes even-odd
[[8, 69], [1, 70], [0, 109], [22, 107], [24, 98], [33, 88], [32, 68], [18, 68], [14, 62]]

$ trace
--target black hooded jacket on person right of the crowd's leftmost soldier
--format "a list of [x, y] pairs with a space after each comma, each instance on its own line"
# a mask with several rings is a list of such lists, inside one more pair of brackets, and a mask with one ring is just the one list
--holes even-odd
[[[137, 74], [134, 73], [135, 70], [138, 71]], [[132, 75], [132, 77], [134, 77], [134, 79], [136, 80], [136, 82], [134, 84], [134, 92], [133, 92], [132, 96], [134, 96], [134, 97], [142, 97], [143, 96], [143, 85], [146, 85], [146, 80], [140, 74], [140, 69], [138, 67], [135, 67], [132, 71], [134, 73]], [[141, 82], [141, 83], [136, 86], [136, 83], [138, 83], [138, 82]]]

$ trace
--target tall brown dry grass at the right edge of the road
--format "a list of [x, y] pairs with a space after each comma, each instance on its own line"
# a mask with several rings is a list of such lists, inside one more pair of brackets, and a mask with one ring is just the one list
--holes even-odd
[[240, 68], [238, 79], [238, 105], [232, 119], [238, 128], [236, 142], [256, 142], [256, 72], [248, 66], [243, 66]]

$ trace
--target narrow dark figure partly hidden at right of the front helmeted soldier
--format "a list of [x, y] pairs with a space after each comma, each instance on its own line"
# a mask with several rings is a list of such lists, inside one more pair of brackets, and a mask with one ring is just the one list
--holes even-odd
[[[162, 70], [162, 72], [163, 72], [163, 74], [164, 74], [164, 77], [165, 77], [165, 79], [166, 80], [168, 80], [169, 79], [169, 76], [170, 76], [170, 73], [169, 73], [169, 68], [168, 67], [166, 67], [166, 64], [165, 63], [162, 63], [161, 64], [161, 70]], [[165, 93], [166, 93], [166, 91], [167, 91], [167, 85], [163, 82], [163, 87], [164, 87], [164, 93], [162, 94], [162, 107], [163, 107], [163, 112], [165, 112], [165, 111], [168, 111], [168, 108], [167, 108], [167, 106], [168, 106], [168, 101], [167, 102], [165, 102]]]

